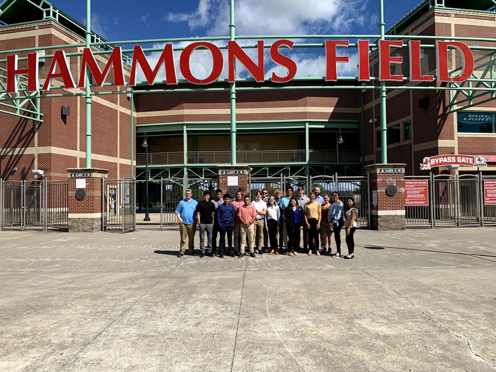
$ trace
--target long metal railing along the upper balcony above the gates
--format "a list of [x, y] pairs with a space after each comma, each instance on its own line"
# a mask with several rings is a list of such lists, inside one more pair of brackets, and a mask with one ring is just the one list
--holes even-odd
[[[238, 151], [238, 164], [306, 163], [306, 150]], [[136, 155], [136, 165], [145, 165], [145, 154]], [[188, 151], [186, 164], [230, 164], [230, 151]], [[339, 162], [359, 163], [355, 150], [339, 150]], [[335, 163], [335, 150], [310, 150], [310, 163]], [[183, 152], [155, 152], [148, 154], [148, 165], [184, 164]]]

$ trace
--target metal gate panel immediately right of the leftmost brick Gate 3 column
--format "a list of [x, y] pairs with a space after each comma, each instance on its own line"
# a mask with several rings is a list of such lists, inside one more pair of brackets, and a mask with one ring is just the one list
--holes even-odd
[[102, 229], [126, 233], [136, 230], [136, 180], [102, 179]]

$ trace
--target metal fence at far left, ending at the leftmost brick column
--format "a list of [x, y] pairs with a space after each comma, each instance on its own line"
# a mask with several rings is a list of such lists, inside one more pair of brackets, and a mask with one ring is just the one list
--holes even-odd
[[0, 230], [68, 229], [67, 181], [0, 180]]

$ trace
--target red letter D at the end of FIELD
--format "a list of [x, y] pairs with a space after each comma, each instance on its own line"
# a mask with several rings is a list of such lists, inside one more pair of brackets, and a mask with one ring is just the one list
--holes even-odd
[[[474, 72], [474, 55], [470, 48], [460, 41], [436, 41], [437, 48], [437, 81], [462, 82], [472, 76]], [[449, 77], [448, 46], [455, 48], [462, 57], [462, 71], [458, 76]]]

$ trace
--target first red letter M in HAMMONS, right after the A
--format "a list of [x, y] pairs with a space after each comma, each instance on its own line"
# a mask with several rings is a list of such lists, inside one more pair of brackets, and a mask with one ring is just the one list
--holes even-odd
[[115, 47], [112, 54], [103, 69], [103, 73], [98, 67], [98, 64], [93, 56], [93, 52], [90, 48], [84, 48], [83, 50], [83, 60], [81, 62], [81, 72], [79, 74], [79, 87], [86, 86], [86, 66], [89, 67], [93, 78], [95, 79], [95, 84], [102, 86], [107, 75], [110, 72], [110, 65], [112, 64], [114, 68], [114, 85], [125, 85], [124, 81], [124, 68], [123, 68], [123, 53], [121, 47]]

